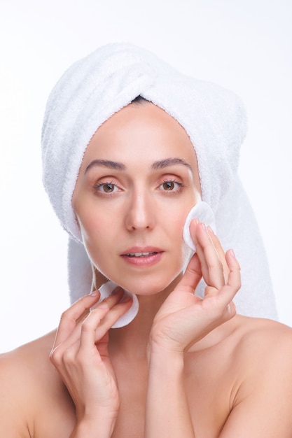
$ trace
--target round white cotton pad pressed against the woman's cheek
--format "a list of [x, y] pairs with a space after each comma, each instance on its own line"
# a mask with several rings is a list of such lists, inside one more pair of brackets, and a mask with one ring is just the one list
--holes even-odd
[[188, 213], [185, 225], [183, 227], [183, 240], [186, 242], [191, 250], [195, 251], [195, 243], [193, 243], [193, 239], [190, 236], [190, 222], [193, 219], [199, 219], [200, 222], [204, 222], [206, 226], [209, 225], [214, 232], [216, 230], [214, 213], [209, 204], [204, 201], [200, 201], [195, 204], [193, 209], [190, 210], [190, 213]]

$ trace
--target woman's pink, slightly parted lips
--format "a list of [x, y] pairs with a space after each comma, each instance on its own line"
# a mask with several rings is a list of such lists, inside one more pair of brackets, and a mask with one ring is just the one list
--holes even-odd
[[[144, 255], [142, 257], [134, 257], [130, 255], [134, 253], [149, 253], [149, 255]], [[132, 246], [132, 248], [128, 248], [122, 254], [120, 254], [120, 256], [123, 257], [125, 262], [132, 264], [133, 266], [150, 267], [160, 261], [163, 253], [164, 250], [155, 246]]]

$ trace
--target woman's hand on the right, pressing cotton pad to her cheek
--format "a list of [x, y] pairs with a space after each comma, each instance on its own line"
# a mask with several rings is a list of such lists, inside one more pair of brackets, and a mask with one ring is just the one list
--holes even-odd
[[[193, 220], [190, 232], [196, 253], [154, 318], [150, 351], [188, 351], [215, 327], [235, 316], [232, 299], [240, 288], [240, 267], [233, 251], [224, 253], [211, 229], [199, 220]], [[202, 277], [207, 283], [203, 299], [194, 295]]]

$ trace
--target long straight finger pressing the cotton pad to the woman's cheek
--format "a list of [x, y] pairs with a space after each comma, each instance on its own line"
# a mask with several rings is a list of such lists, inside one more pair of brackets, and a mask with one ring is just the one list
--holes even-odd
[[225, 284], [223, 265], [207, 232], [207, 227], [201, 222], [198, 223], [195, 225], [195, 232], [192, 236], [201, 263], [204, 281], [217, 290], [221, 289]]

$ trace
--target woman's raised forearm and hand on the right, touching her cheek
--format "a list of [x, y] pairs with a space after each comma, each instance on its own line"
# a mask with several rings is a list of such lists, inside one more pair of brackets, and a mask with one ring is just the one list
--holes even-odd
[[[183, 357], [190, 346], [235, 315], [232, 298], [240, 287], [239, 264], [226, 253], [223, 264], [204, 225], [193, 226], [197, 254], [183, 279], [155, 316], [148, 345], [149, 381], [146, 438], [194, 438], [183, 376]], [[201, 276], [207, 283], [204, 299], [193, 295]]]

